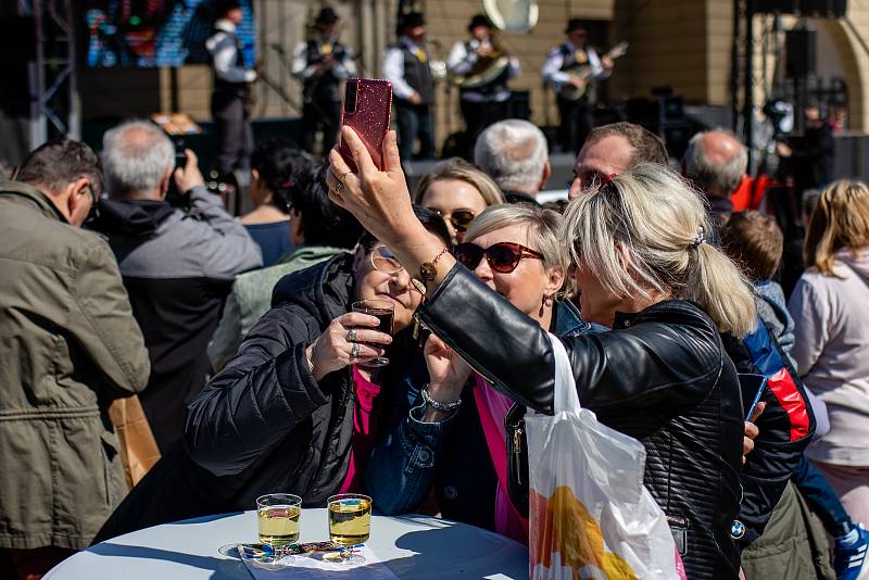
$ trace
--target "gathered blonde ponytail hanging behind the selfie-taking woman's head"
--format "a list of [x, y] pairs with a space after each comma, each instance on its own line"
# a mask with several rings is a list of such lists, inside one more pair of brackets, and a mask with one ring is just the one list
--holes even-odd
[[719, 332], [741, 338], [754, 330], [754, 293], [733, 261], [709, 243], [701, 243], [690, 252], [694, 255], [681, 298], [700, 304]]

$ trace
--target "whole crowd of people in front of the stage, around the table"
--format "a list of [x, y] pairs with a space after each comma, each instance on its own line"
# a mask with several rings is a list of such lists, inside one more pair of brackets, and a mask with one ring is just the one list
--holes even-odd
[[[545, 207], [528, 122], [481, 129], [474, 163], [413, 194], [394, 133], [383, 171], [341, 136], [357, 171], [260, 143], [240, 218], [148, 122], [3, 177], [0, 576], [269, 492], [365, 492], [528, 543], [527, 462], [508, 464], [525, 411], [553, 409], [547, 333], [582, 405], [645, 447], [688, 578], [869, 575], [865, 184], [806, 196], [785, 292], [793, 240], [734, 206], [747, 161], [728, 131], [696, 135], [680, 175], [646, 129], [591, 129], [569, 201]], [[391, 333], [352, 308], [370, 299]], [[768, 389], [746, 421], [748, 375]], [[110, 409], [130, 395], [160, 458], [125, 478]]]

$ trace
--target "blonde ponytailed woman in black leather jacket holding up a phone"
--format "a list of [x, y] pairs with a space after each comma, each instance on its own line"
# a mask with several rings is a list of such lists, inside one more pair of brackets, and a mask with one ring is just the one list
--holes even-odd
[[[380, 172], [356, 134], [342, 131], [360, 173], [333, 151], [332, 199], [426, 282], [418, 315], [496, 389], [552, 413], [545, 330], [423, 239], [394, 135]], [[645, 446], [645, 486], [680, 539], [688, 577], [733, 579], [743, 409], [719, 332], [743, 336], [755, 310], [736, 267], [706, 243], [709, 231], [697, 193], [657, 165], [640, 165], [571, 202], [562, 239], [582, 315], [613, 330], [562, 340], [583, 406]]]

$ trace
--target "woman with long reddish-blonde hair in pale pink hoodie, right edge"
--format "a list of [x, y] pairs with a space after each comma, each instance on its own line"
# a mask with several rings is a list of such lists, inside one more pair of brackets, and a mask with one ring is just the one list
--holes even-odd
[[806, 454], [855, 522], [869, 524], [869, 188], [836, 181], [806, 232], [808, 269], [788, 308], [791, 351], [806, 387], [824, 403], [830, 432]]

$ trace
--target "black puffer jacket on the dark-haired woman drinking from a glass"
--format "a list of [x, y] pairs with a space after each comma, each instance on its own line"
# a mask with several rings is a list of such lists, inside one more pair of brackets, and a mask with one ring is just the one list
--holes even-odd
[[[322, 505], [343, 483], [353, 433], [350, 367], [319, 382], [304, 349], [350, 311], [353, 256], [286, 276], [273, 308], [238, 354], [188, 405], [186, 439], [158, 462], [118, 506], [96, 541], [184, 518], [251, 509], [281, 491]], [[395, 384], [410, 360], [396, 336], [382, 384]]]

